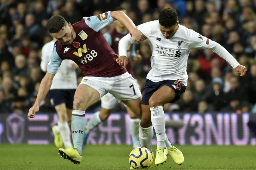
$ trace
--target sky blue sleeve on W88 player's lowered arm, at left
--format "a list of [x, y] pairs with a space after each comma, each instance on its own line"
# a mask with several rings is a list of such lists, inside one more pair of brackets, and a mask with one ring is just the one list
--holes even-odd
[[50, 74], [56, 74], [58, 71], [59, 66], [61, 65], [63, 59], [61, 59], [56, 51], [56, 44], [54, 44], [54, 48], [52, 51], [52, 55], [49, 59], [48, 65], [47, 65], [47, 71]]

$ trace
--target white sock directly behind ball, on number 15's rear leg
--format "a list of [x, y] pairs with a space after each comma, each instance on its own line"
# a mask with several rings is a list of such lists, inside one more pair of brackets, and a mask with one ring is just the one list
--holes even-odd
[[148, 148], [150, 151], [152, 150], [151, 144], [152, 144], [152, 138], [153, 138], [153, 126], [150, 127], [141, 127], [139, 129], [139, 139], [140, 139], [140, 145], [142, 147]]

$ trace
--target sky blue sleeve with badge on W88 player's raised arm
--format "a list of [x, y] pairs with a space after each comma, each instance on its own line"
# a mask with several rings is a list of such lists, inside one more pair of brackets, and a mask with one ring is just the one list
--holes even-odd
[[105, 26], [113, 23], [113, 18], [111, 17], [110, 13], [111, 11], [108, 11], [91, 17], [83, 17], [83, 19], [91, 29], [98, 32]]

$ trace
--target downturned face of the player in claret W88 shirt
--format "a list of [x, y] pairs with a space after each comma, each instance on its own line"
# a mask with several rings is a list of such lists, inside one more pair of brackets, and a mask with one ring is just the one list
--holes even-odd
[[55, 37], [58, 41], [65, 45], [71, 45], [74, 41], [74, 37], [72, 35], [72, 26], [69, 23], [64, 26], [59, 32], [52, 33], [52, 36]]

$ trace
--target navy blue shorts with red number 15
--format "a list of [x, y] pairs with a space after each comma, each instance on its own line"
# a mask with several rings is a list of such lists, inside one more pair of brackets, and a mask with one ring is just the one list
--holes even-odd
[[152, 82], [151, 80], [147, 79], [144, 87], [145, 91], [140, 103], [143, 105], [149, 105], [149, 98], [162, 86], [169, 86], [170, 88], [174, 89], [175, 97], [168, 103], [174, 103], [178, 101], [180, 99], [180, 95], [186, 90], [186, 86], [179, 80], [163, 80], [160, 82]]

